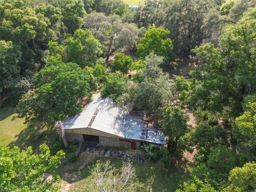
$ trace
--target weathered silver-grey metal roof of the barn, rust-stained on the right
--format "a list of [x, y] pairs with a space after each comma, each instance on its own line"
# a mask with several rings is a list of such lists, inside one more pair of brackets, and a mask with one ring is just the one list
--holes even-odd
[[166, 144], [166, 137], [161, 130], [153, 126], [147, 128], [143, 119], [131, 116], [125, 108], [119, 107], [109, 98], [101, 98], [99, 93], [93, 95], [93, 101], [81, 113], [65, 118], [65, 130], [86, 127], [121, 138]]

